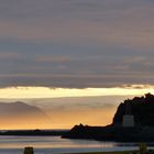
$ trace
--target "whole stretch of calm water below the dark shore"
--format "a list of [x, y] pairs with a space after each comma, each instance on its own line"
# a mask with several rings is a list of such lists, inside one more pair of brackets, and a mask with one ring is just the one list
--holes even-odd
[[0, 154], [22, 154], [25, 146], [33, 146], [35, 154], [100, 152], [136, 150], [138, 144], [67, 140], [59, 136], [0, 136]]

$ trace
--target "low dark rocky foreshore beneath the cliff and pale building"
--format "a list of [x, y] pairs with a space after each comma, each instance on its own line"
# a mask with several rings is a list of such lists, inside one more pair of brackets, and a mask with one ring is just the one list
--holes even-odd
[[154, 128], [148, 127], [88, 127], [75, 125], [63, 138], [117, 142], [154, 142]]

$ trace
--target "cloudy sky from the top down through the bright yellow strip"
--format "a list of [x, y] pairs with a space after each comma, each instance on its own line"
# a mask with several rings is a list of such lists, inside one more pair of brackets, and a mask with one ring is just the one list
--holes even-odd
[[0, 0], [0, 99], [153, 92], [153, 7]]

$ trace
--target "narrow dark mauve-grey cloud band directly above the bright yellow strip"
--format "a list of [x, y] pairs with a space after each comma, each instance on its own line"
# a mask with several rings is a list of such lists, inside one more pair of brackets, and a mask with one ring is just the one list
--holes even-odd
[[1, 87], [18, 86], [43, 86], [62, 88], [102, 88], [129, 85], [153, 85], [153, 75], [141, 76], [141, 74], [119, 75], [40, 75], [40, 74], [15, 74], [1, 75]]

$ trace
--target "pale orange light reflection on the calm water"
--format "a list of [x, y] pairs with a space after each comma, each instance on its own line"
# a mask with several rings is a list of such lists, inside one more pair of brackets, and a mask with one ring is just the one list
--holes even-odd
[[0, 136], [0, 148], [43, 147], [111, 147], [112, 143], [88, 140], [67, 140], [59, 136]]

